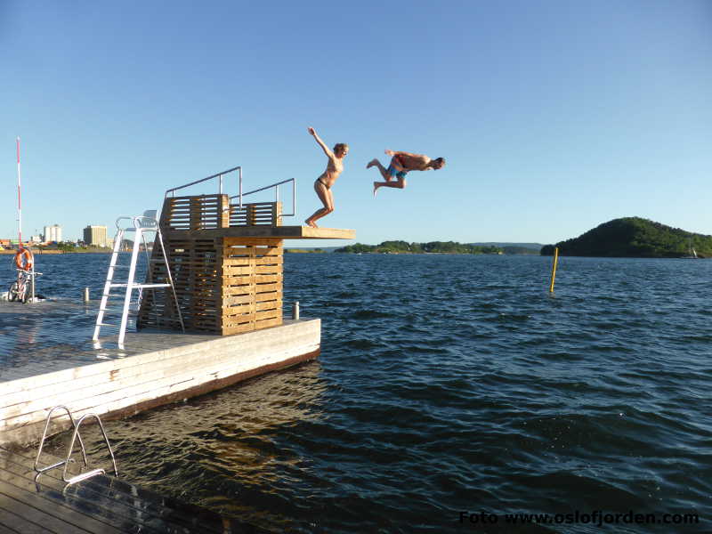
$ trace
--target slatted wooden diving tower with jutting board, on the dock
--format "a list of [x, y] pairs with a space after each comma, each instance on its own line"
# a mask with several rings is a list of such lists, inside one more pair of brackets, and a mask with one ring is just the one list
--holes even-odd
[[[284, 239], [354, 239], [355, 231], [282, 226], [281, 202], [169, 197], [159, 220], [185, 328], [223, 336], [282, 324]], [[154, 247], [147, 283], [166, 280]], [[137, 328], [180, 329], [169, 292], [142, 298]]]

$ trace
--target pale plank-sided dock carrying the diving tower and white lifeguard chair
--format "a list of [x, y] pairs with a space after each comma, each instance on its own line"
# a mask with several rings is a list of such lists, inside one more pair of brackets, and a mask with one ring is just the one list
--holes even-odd
[[[0, 303], [0, 445], [37, 443], [58, 405], [76, 418], [127, 417], [320, 353], [319, 319], [232, 336], [145, 329], [119, 348], [116, 334], [90, 340], [95, 313], [82, 303]], [[57, 421], [51, 434], [69, 428]]]

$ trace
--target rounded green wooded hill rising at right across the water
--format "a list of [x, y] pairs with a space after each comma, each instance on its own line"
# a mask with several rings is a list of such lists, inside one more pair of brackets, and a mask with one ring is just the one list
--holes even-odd
[[676, 258], [690, 254], [712, 257], [712, 236], [692, 233], [641, 217], [623, 217], [603, 223], [578, 238], [541, 248], [542, 255]]

